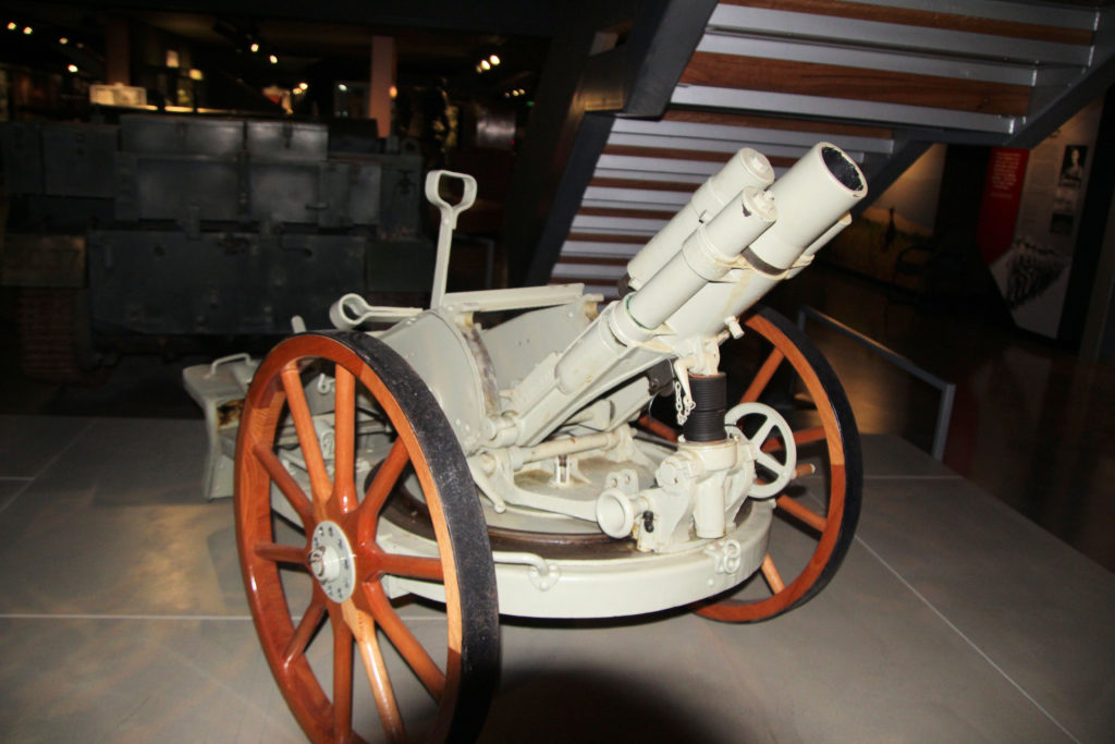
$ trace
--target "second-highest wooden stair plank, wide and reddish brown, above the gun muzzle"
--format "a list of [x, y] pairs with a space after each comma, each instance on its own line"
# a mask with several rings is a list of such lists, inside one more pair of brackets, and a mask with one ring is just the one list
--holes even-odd
[[1007, 116], [1025, 115], [1030, 97], [1018, 85], [705, 51], [692, 56], [681, 83]]

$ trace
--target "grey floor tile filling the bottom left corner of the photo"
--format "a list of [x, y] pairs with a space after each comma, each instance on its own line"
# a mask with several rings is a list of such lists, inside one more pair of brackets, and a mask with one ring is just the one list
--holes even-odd
[[0, 617], [7, 742], [300, 742], [250, 620]]

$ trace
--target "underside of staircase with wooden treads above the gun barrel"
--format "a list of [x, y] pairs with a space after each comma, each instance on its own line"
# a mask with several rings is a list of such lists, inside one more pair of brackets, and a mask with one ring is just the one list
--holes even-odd
[[876, 195], [937, 142], [1032, 147], [1115, 78], [1113, 22], [1069, 3], [721, 1], [660, 115], [617, 110], [602, 149], [574, 153], [595, 164], [550, 210], [563, 239], [539, 245], [534, 278], [550, 257], [551, 283], [615, 297], [628, 259], [743, 146], [780, 172], [833, 142]]

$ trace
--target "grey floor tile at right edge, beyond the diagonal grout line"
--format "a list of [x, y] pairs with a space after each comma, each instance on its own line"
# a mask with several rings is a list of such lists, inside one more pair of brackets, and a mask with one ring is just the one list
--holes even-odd
[[1066, 728], [1115, 735], [1115, 576], [966, 481], [873, 481], [857, 534]]

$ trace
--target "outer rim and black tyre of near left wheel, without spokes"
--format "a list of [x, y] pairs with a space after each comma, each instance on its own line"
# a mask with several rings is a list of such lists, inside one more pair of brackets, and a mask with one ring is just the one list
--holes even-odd
[[[459, 656], [455, 656], [450, 648], [449, 660], [446, 663], [446, 690], [452, 690], [453, 699], [445, 699], [450, 695], [447, 692], [439, 702], [433, 725], [433, 741], [472, 741], [484, 725], [500, 668], [495, 568], [483, 512], [464, 454], [433, 394], [398, 354], [365, 334], [301, 334], [284, 340], [260, 365], [245, 399], [235, 465], [237, 545], [249, 603], [272, 671], [288, 705], [311, 740], [340, 738], [330, 733], [327, 713], [333, 709], [332, 703], [312, 676], [309, 664], [306, 665], [308, 671], [301, 677], [290, 673], [280, 674], [282, 669], [277, 668], [277, 664], [282, 664], [278, 655], [290, 642], [294, 631], [293, 624], [285, 619], [292, 608], [275, 606], [279, 601], [277, 596], [283, 605], [287, 602], [282, 591], [273, 591], [275, 586], [270, 583], [277, 580], [278, 568], [258, 558], [254, 550], [255, 544], [272, 539], [268, 532], [272, 529], [269, 526], [272, 523], [272, 480], [259, 456], [251, 453], [258, 444], [266, 443], [265, 446], [270, 446], [274, 441], [280, 414], [287, 405], [281, 370], [291, 363], [298, 364], [304, 359], [322, 359], [343, 366], [355, 375], [358, 390], [362, 385], [363, 392], [377, 404], [386, 402], [398, 407], [405, 422], [396, 421], [384, 408], [396, 431], [401, 431], [404, 425], [413, 431], [413, 441], [417, 443], [415, 451], [410, 451], [409, 435], [399, 436], [407, 441], [411, 466], [416, 470], [426, 467], [432, 476], [435, 487], [433, 493], [425, 495], [427, 499], [436, 499], [440, 504], [438, 511], [442, 516], [435, 525], [437, 542], [443, 555], [443, 543], [447, 543], [452, 552], [456, 593], [459, 597], [455, 609], [447, 607], [450, 624], [454, 624], [455, 613], [459, 612], [459, 627], [450, 628], [460, 634]], [[377, 386], [381, 384], [381, 388], [369, 387], [367, 380], [372, 378], [378, 380]], [[375, 392], [377, 389], [380, 394]], [[389, 397], [390, 402], [384, 396]], [[316, 496], [311, 496], [311, 500], [313, 497]], [[347, 526], [345, 529], [348, 531]], [[311, 532], [309, 525], [304, 526], [304, 532]], [[357, 547], [355, 530], [350, 535], [350, 543]], [[359, 563], [361, 559], [357, 557], [356, 560]], [[358, 576], [358, 582], [360, 581]], [[318, 591], [314, 587], [314, 592]], [[321, 598], [326, 599], [323, 593]], [[330, 619], [336, 620], [333, 612], [340, 606], [331, 600], [328, 605]], [[448, 670], [450, 666], [454, 667], [452, 671]]]

